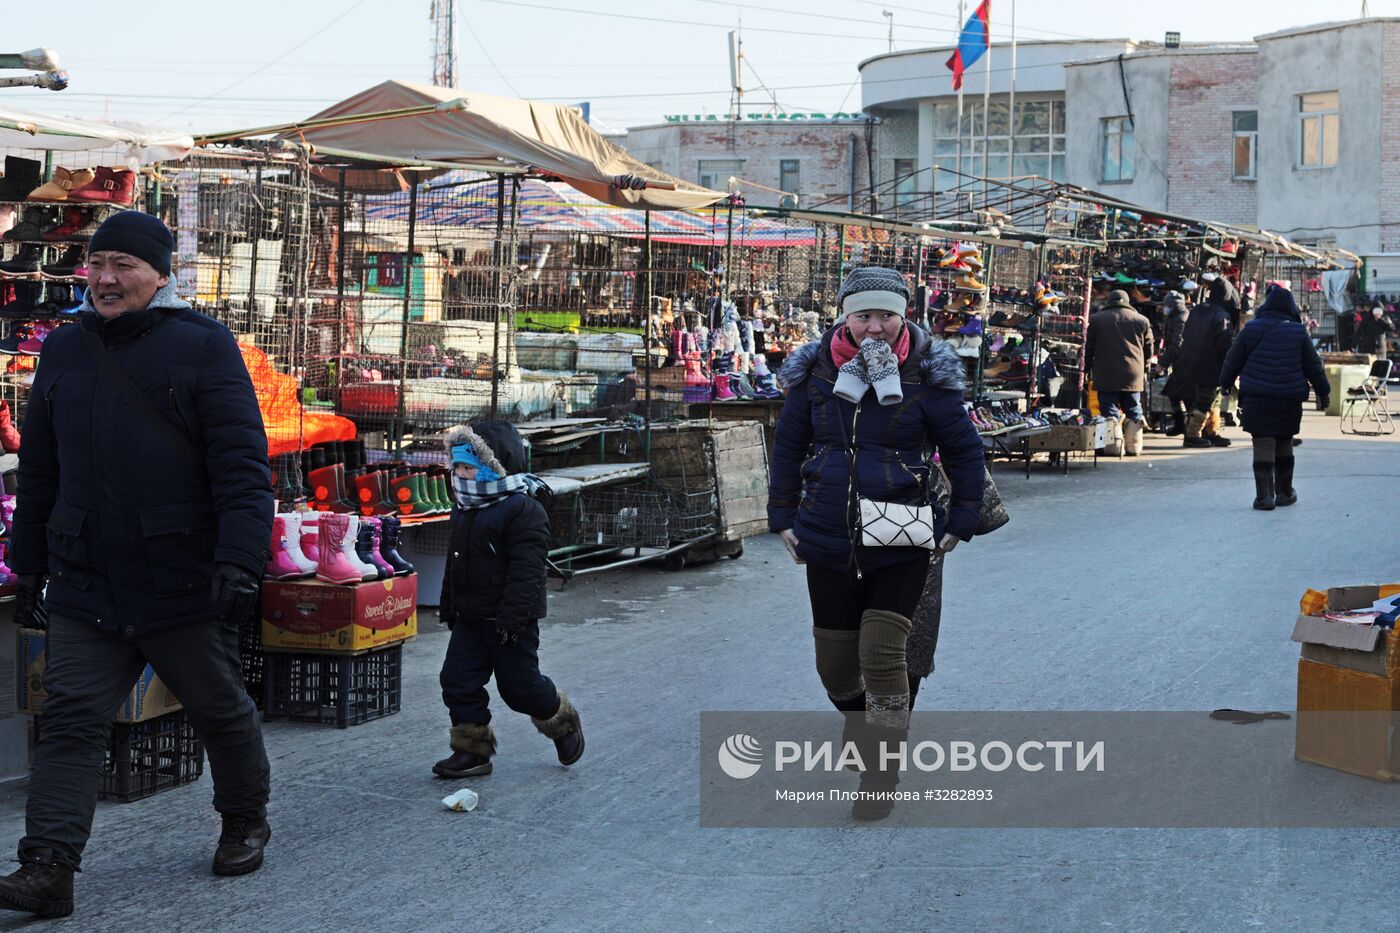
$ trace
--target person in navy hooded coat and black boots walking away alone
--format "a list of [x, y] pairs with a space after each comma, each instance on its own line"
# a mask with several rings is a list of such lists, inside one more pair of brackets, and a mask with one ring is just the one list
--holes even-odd
[[1254, 444], [1254, 509], [1298, 502], [1294, 490], [1294, 434], [1302, 426], [1312, 385], [1323, 408], [1331, 384], [1294, 294], [1273, 286], [1254, 319], [1245, 325], [1221, 368], [1221, 385], [1239, 380], [1245, 430]]

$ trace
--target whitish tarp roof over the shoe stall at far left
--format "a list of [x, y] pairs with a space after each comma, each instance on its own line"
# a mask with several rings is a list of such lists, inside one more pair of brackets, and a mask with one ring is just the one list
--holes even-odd
[[193, 147], [189, 136], [151, 126], [94, 123], [0, 106], [0, 148], [83, 154], [78, 160], [59, 158], [60, 164], [134, 170], [185, 158]]

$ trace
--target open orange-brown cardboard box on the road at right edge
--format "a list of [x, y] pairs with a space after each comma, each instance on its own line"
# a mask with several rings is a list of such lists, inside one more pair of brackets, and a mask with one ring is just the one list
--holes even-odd
[[[1301, 608], [1364, 609], [1400, 594], [1400, 586], [1316, 590]], [[1294, 756], [1375, 780], [1400, 780], [1400, 637], [1371, 625], [1299, 615], [1292, 640], [1298, 661]]]

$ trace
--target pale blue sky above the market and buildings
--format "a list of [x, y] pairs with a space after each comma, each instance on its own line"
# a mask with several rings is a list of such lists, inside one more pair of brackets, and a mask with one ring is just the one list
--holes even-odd
[[[1369, 6], [1372, 15], [1400, 15], [1400, 0]], [[32, 111], [242, 129], [308, 116], [385, 78], [430, 80], [428, 0], [188, 0], [151, 13], [111, 0], [4, 7], [6, 50], [49, 46], [71, 74], [62, 92], [0, 90], [0, 101]], [[458, 83], [588, 99], [595, 118], [617, 127], [664, 113], [722, 113], [725, 31], [742, 15], [748, 87], [776, 88], [788, 111], [855, 109], [855, 64], [888, 48], [882, 8], [895, 14], [896, 49], [952, 41], [952, 0], [458, 0]], [[1026, 39], [1161, 41], [1175, 29], [1205, 42], [1359, 13], [1359, 0], [1018, 0], [1016, 25]], [[1011, 0], [994, 0], [994, 34], [1009, 34], [1009, 17]], [[746, 97], [767, 99], [757, 90]]]

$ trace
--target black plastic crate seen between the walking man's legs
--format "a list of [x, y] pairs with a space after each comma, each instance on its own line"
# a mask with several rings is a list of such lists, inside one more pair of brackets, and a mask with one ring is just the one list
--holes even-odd
[[98, 797], [132, 803], [199, 780], [203, 773], [204, 745], [185, 710], [144, 723], [116, 723]]

